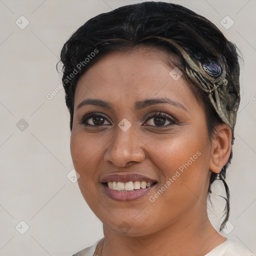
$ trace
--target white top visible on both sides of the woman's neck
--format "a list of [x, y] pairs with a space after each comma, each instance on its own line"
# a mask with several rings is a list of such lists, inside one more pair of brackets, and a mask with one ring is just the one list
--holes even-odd
[[[96, 241], [90, 247], [78, 251], [72, 256], [97, 256], [97, 254], [94, 254], [94, 251], [100, 240]], [[255, 254], [242, 247], [235, 240], [227, 238], [226, 241], [216, 246], [204, 256], [255, 256]]]

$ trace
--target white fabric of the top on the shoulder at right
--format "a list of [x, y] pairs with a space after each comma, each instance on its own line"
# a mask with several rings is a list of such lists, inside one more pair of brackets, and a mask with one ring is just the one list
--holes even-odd
[[242, 245], [233, 239], [227, 240], [204, 256], [255, 256], [251, 251], [245, 249]]

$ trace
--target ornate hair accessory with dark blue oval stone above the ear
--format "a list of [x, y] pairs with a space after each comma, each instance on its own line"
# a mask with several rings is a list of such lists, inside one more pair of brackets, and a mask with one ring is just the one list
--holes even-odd
[[240, 102], [239, 83], [232, 82], [226, 73], [225, 62], [221, 56], [204, 56], [200, 52], [191, 52], [189, 77], [204, 92], [219, 118], [229, 125], [234, 137], [236, 113]]

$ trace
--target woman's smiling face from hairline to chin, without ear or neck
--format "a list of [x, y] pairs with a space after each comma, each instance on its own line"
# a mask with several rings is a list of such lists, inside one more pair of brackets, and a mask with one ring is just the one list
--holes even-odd
[[178, 61], [148, 48], [109, 53], [77, 83], [70, 149], [79, 188], [115, 232], [150, 234], [206, 212], [206, 117], [168, 57]]

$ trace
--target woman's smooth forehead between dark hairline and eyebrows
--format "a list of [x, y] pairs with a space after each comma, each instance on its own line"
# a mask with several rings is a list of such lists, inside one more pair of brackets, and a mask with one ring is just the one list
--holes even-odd
[[184, 76], [175, 80], [170, 75], [179, 64], [176, 54], [151, 47], [108, 53], [78, 80], [75, 105], [91, 97], [135, 101], [171, 95], [173, 99], [185, 101], [193, 95]]

